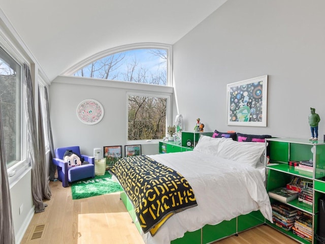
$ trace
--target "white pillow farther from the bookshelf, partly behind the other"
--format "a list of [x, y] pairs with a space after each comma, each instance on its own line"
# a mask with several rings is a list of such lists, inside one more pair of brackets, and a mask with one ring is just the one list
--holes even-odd
[[193, 150], [200, 151], [204, 154], [217, 155], [219, 145], [226, 140], [232, 140], [231, 138], [213, 138], [210, 136], [201, 135], [196, 147]]

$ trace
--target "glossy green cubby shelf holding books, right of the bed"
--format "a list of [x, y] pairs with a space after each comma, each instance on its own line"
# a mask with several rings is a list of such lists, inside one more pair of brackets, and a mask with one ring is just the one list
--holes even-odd
[[[266, 221], [266, 223], [300, 243], [317, 243], [316, 235], [319, 218], [318, 202], [320, 198], [325, 196], [325, 142], [297, 138], [269, 138], [266, 139], [266, 146], [268, 146], [269, 152], [269, 162], [266, 162], [267, 191], [272, 191], [279, 187], [286, 187], [286, 184], [288, 184], [294, 176], [302, 177], [313, 183], [312, 205], [303, 203], [298, 199], [286, 203], [312, 216], [312, 241], [297, 236], [292, 230], [286, 231], [272, 224], [270, 221]], [[313, 172], [298, 170], [295, 166], [288, 164], [289, 161], [300, 162], [309, 160], [313, 162]], [[272, 198], [270, 198], [270, 200], [271, 203], [276, 201]]]

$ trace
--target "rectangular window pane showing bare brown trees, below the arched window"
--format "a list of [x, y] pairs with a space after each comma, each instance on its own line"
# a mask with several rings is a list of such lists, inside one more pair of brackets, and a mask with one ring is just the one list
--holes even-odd
[[166, 97], [128, 95], [128, 140], [154, 140], [166, 136]]

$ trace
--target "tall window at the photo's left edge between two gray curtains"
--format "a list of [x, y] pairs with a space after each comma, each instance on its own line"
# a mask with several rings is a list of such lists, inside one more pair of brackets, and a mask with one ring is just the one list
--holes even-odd
[[0, 48], [0, 102], [7, 167], [21, 160], [21, 66]]

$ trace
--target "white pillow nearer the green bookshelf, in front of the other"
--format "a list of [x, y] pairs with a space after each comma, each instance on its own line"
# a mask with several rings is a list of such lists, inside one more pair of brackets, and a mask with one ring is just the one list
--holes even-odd
[[218, 147], [218, 156], [224, 159], [236, 161], [256, 167], [259, 158], [264, 153], [265, 143], [262, 142], [238, 142], [226, 140]]

